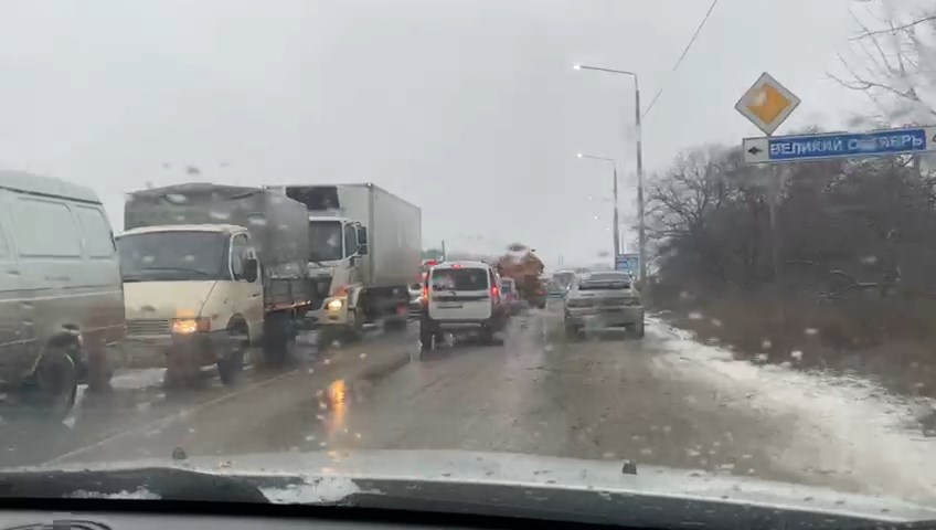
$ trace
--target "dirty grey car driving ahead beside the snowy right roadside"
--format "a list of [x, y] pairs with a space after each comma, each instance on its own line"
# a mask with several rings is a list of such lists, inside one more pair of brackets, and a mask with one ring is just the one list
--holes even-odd
[[619, 272], [586, 273], [573, 280], [563, 303], [565, 333], [627, 327], [644, 337], [644, 304], [630, 275]]

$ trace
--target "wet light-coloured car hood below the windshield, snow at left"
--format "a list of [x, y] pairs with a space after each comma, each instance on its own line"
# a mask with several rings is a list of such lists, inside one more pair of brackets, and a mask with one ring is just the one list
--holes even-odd
[[[137, 488], [128, 478], [134, 471], [139, 471]], [[0, 473], [0, 491], [9, 484], [29, 494], [23, 496], [34, 496], [23, 488], [42, 479], [45, 495], [40, 496], [44, 497], [172, 498], [166, 490], [146, 490], [171, 483], [169, 478], [160, 483], [160, 471], [177, 478], [180, 473], [204, 475], [215, 483], [219, 477], [247, 479], [263, 494], [256, 498], [270, 502], [520, 515], [660, 528], [685, 521], [701, 527], [749, 528], [778, 519], [785, 524], [842, 528], [936, 519], [936, 505], [756, 478], [626, 460], [462, 451], [332, 451], [24, 467]], [[120, 480], [108, 487], [109, 476]], [[185, 489], [209, 495], [223, 488]]]

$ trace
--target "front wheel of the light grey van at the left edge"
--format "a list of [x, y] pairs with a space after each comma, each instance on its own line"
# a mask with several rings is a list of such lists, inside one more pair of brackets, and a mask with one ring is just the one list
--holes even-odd
[[39, 415], [59, 423], [72, 412], [78, 392], [78, 370], [66, 349], [53, 348], [39, 361], [26, 389], [26, 402]]

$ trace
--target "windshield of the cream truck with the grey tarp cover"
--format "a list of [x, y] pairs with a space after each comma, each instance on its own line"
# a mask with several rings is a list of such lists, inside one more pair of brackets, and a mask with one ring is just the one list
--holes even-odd
[[226, 279], [227, 234], [151, 232], [117, 239], [124, 282]]

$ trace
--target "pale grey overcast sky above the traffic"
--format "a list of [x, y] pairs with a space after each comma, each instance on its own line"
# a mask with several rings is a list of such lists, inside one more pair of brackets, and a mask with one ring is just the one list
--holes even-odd
[[[826, 78], [849, 0], [7, 0], [0, 165], [123, 194], [191, 180], [372, 181], [423, 209], [427, 244], [522, 241], [550, 265], [610, 247], [609, 168], [634, 216], [632, 86], [648, 171], [758, 136], [734, 103], [769, 71], [804, 103], [778, 131], [837, 127], [865, 100]], [[164, 168], [170, 163], [170, 168]], [[593, 218], [598, 215], [596, 221]]]

